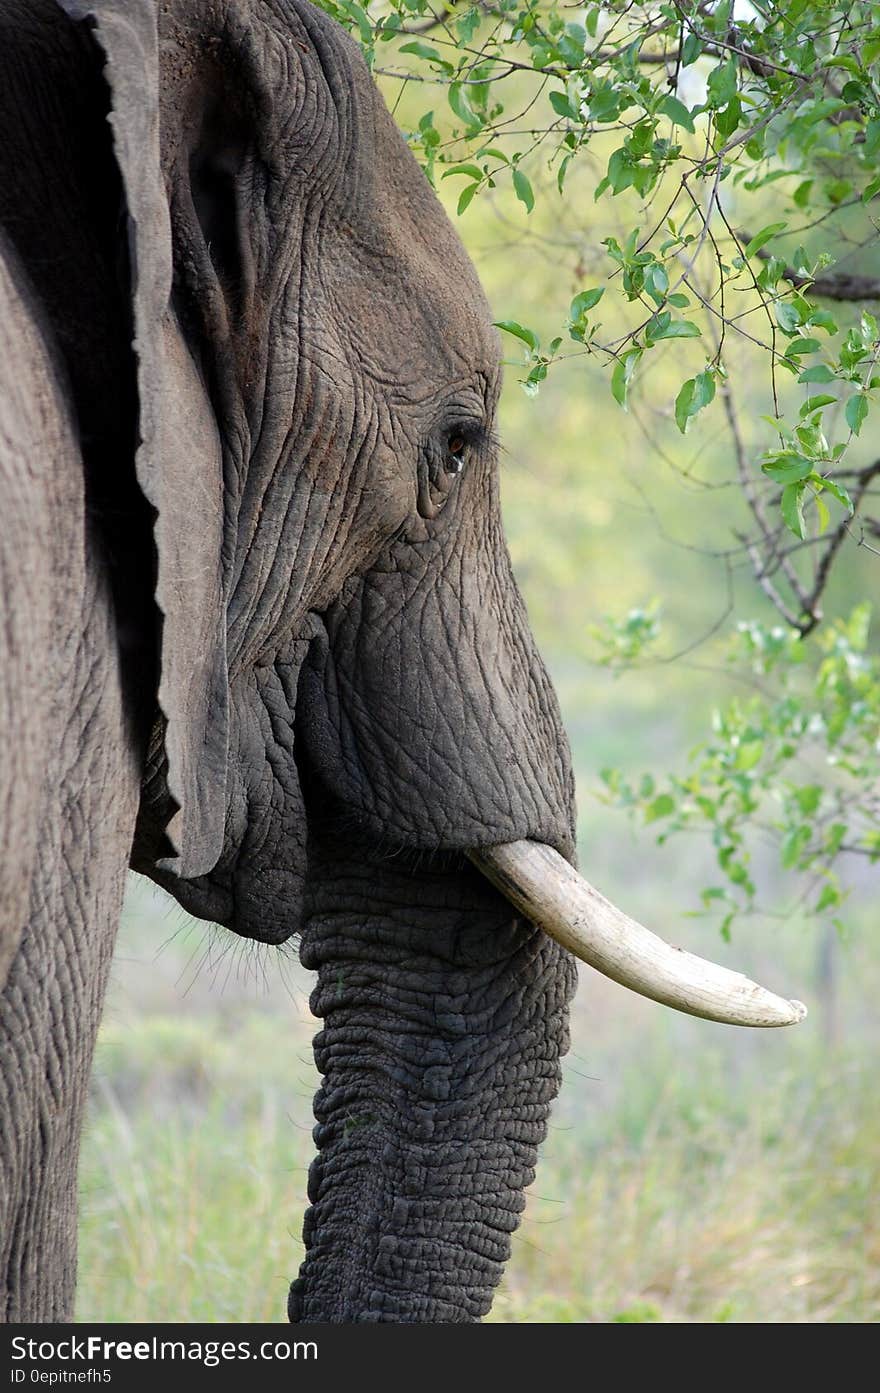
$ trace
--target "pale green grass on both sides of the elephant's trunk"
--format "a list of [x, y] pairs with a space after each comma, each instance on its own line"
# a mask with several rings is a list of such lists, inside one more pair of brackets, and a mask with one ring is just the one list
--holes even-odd
[[[313, 1155], [308, 979], [267, 965], [255, 995], [220, 958], [213, 985], [178, 983], [177, 944], [146, 971], [160, 936], [129, 917], [102, 1031], [77, 1318], [283, 1319]], [[870, 997], [870, 964], [845, 967]], [[745, 1035], [590, 974], [490, 1319], [876, 1321], [876, 1049], [847, 1020], [834, 1048], [819, 1021]]]

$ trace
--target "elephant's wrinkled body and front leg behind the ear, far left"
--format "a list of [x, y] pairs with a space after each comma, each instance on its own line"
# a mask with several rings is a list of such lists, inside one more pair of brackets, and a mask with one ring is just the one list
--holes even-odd
[[60, 1321], [143, 751], [67, 390], [0, 247], [0, 1319]]

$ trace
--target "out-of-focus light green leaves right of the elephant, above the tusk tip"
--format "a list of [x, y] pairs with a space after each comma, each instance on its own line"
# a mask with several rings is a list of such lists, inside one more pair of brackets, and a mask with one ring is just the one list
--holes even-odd
[[[834, 917], [842, 931], [845, 868], [880, 861], [880, 657], [867, 652], [869, 623], [861, 605], [812, 639], [739, 624], [728, 663], [756, 690], [713, 710], [712, 734], [688, 769], [641, 781], [620, 769], [602, 773], [603, 800], [656, 823], [659, 844], [684, 833], [710, 840], [721, 885], [703, 887], [702, 912], [721, 914], [724, 937], [737, 914], [755, 907], [762, 864], [764, 876], [794, 872], [798, 908]], [[642, 612], [627, 630], [643, 652]], [[613, 623], [606, 663], [617, 662], [620, 635]], [[632, 646], [627, 656], [636, 656]]]

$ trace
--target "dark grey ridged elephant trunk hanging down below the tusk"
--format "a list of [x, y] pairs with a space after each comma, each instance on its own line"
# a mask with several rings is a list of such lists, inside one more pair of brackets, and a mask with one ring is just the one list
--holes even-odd
[[290, 1316], [476, 1321], [558, 1089], [575, 964], [466, 865], [337, 851], [311, 900], [323, 1084]]

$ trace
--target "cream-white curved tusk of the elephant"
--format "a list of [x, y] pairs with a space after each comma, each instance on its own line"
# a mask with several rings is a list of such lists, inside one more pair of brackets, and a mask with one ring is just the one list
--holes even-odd
[[641, 996], [727, 1025], [795, 1025], [806, 1015], [802, 1002], [787, 1002], [739, 972], [664, 943], [543, 843], [511, 841], [468, 855], [557, 943]]

